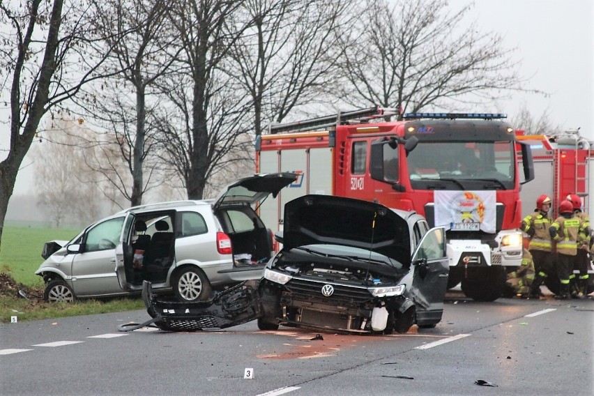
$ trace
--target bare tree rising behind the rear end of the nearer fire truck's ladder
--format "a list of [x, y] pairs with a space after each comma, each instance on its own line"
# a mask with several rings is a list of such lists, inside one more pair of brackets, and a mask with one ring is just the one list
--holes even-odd
[[234, 45], [229, 74], [250, 93], [254, 132], [261, 135], [263, 120], [280, 122], [335, 86], [337, 62], [344, 61], [335, 38], [356, 14], [350, 0], [252, 0], [245, 9], [254, 24]]

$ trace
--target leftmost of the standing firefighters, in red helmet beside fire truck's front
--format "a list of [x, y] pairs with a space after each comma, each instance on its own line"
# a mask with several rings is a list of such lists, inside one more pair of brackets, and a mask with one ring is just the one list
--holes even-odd
[[530, 245], [528, 250], [532, 254], [536, 275], [532, 282], [528, 298], [539, 298], [540, 285], [553, 268], [553, 253], [551, 245], [551, 218], [549, 209], [551, 208], [551, 198], [545, 194], [536, 199], [536, 208], [534, 213], [527, 215], [522, 220], [521, 230], [530, 236]]

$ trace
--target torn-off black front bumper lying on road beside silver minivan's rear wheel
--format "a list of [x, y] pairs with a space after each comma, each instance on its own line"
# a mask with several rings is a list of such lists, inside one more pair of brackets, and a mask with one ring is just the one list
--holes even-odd
[[142, 285], [142, 300], [152, 319], [144, 323], [127, 323], [120, 331], [153, 325], [165, 331], [201, 331], [238, 326], [261, 316], [258, 281], [247, 281], [218, 294], [210, 301], [181, 303], [158, 300], [151, 283]]

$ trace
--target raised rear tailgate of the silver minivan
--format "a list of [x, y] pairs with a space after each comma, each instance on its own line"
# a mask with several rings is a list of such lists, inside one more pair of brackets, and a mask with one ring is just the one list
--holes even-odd
[[291, 172], [282, 172], [274, 174], [256, 174], [254, 176], [241, 178], [227, 185], [220, 195], [215, 199], [213, 208], [227, 204], [237, 204], [244, 202], [254, 204], [257, 201], [264, 201], [268, 195], [273, 197], [287, 185], [297, 180], [297, 174]]

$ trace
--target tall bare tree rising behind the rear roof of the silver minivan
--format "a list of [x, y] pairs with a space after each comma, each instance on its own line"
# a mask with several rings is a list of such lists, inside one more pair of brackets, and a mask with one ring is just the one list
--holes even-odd
[[246, 130], [245, 100], [218, 72], [229, 48], [252, 24], [249, 15], [239, 12], [243, 2], [176, 0], [169, 7], [183, 46], [179, 64], [185, 74], [162, 84], [176, 107], [173, 117], [160, 117], [162, 142], [190, 199], [203, 197], [208, 177]]

